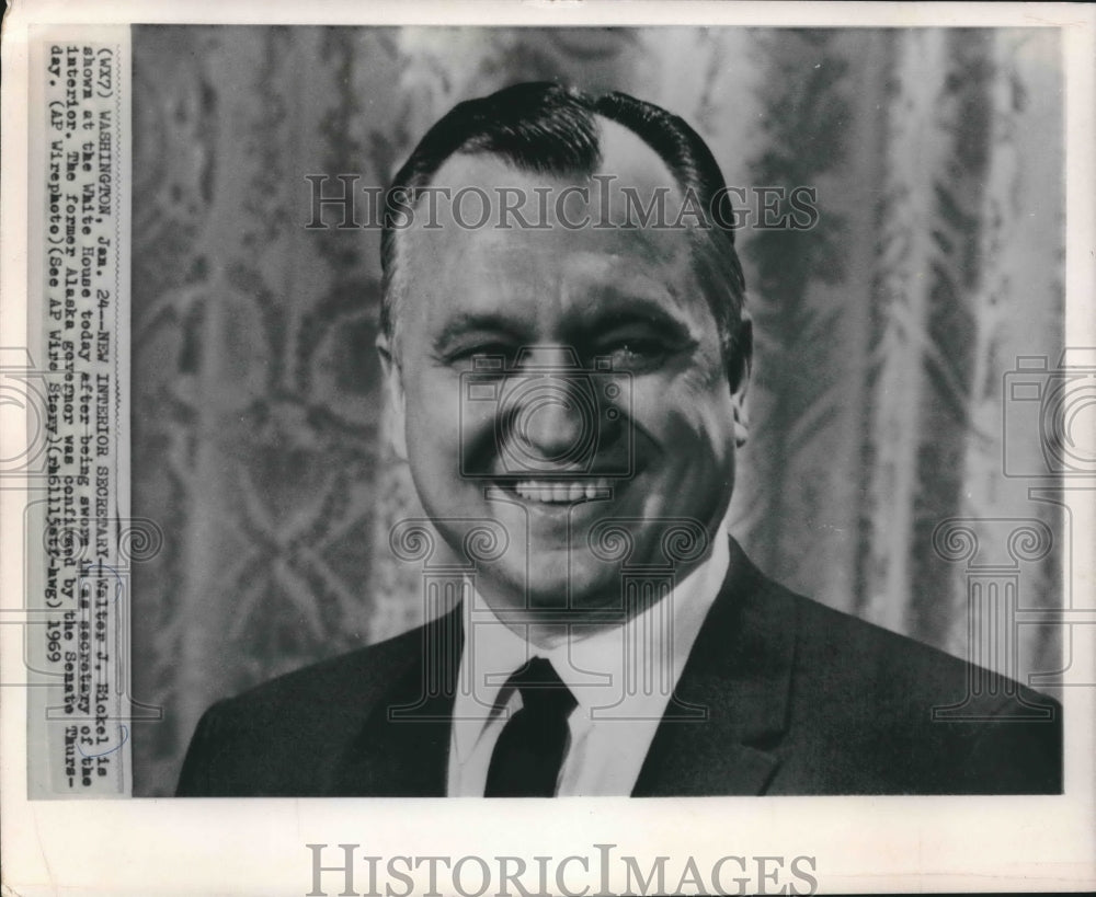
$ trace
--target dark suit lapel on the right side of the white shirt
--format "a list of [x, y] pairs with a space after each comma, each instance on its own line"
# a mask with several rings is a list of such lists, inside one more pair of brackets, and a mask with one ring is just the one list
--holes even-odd
[[[787, 727], [795, 609], [731, 540], [731, 562], [635, 796], [762, 794]], [[688, 708], [705, 709], [696, 718]]]

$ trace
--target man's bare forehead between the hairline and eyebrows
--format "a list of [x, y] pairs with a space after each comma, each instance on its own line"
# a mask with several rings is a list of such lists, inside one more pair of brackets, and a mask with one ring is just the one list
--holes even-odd
[[[685, 228], [620, 226], [633, 221], [641, 214], [637, 205], [648, 208], [655, 195], [673, 221], [684, 196], [673, 173], [630, 130], [607, 119], [600, 124], [602, 161], [589, 175], [522, 171], [492, 153], [447, 160], [432, 179], [432, 186], [445, 193], [434, 197], [433, 211], [420, 197], [401, 238], [409, 292], [438, 299], [413, 303], [409, 313], [442, 320], [494, 309], [505, 297], [502, 304], [512, 312], [551, 314], [594, 299], [606, 307], [625, 296], [672, 306], [683, 295], [697, 294], [693, 241]], [[567, 199], [576, 202], [564, 202], [560, 211], [557, 203]], [[477, 223], [483, 203], [490, 214]], [[511, 210], [500, 227], [503, 203]], [[598, 227], [607, 222], [612, 226]]]

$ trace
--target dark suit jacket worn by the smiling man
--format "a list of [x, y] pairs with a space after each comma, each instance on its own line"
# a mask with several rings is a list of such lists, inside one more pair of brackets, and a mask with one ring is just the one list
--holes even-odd
[[[215, 704], [178, 793], [443, 796], [460, 628], [457, 610]], [[968, 694], [975, 669], [791, 594], [732, 541], [633, 795], [1060, 793], [1059, 705], [998, 677]], [[934, 720], [949, 705], [962, 718]]]

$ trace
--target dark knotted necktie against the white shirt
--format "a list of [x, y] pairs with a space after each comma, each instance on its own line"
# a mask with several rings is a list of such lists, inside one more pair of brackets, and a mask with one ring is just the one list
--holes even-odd
[[551, 797], [567, 750], [574, 695], [552, 665], [534, 657], [510, 677], [522, 709], [503, 726], [491, 755], [484, 797]]

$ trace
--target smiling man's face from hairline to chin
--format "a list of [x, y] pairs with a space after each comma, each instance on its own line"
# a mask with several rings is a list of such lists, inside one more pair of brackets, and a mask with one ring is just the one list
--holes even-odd
[[[670, 186], [673, 220], [681, 197], [649, 147], [604, 123], [603, 158], [616, 179], [609, 208], [589, 183], [590, 205], [569, 207], [569, 220], [624, 220], [620, 186], [644, 206]], [[514, 187], [534, 221], [537, 189], [551, 191], [551, 208], [573, 186], [484, 156], [454, 157], [434, 183], [493, 202]], [[472, 202], [464, 219], [477, 217]], [[673, 561], [673, 521], [716, 533], [745, 433], [690, 240], [558, 221], [472, 230], [446, 203], [437, 220], [427, 229], [419, 216], [400, 234], [406, 299], [397, 344], [381, 346], [397, 448], [423, 507], [458, 554], [476, 521], [505, 529], [509, 548], [477, 571], [496, 612], [619, 608], [624, 566]], [[631, 539], [623, 555], [591, 547], [610, 519]]]

